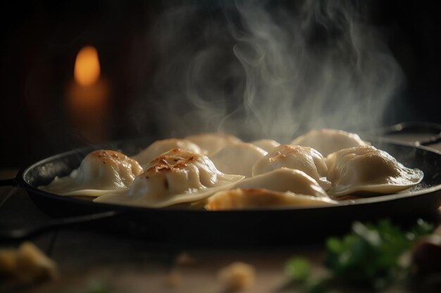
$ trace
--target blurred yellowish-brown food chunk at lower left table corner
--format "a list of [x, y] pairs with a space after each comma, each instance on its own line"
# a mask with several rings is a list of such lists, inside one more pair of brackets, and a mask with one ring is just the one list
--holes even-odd
[[0, 250], [0, 275], [19, 282], [55, 279], [56, 263], [31, 242], [23, 242], [18, 249]]

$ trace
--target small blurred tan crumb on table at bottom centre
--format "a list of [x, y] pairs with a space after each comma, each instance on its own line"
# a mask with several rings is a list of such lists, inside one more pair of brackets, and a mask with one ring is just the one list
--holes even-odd
[[229, 290], [247, 289], [254, 285], [256, 270], [247, 263], [237, 261], [230, 264], [230, 266], [222, 268], [218, 273], [218, 278]]

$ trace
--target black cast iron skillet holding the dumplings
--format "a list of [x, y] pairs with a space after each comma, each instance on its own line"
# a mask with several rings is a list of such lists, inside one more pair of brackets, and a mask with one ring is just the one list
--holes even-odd
[[[392, 127], [389, 130], [397, 129]], [[150, 142], [122, 141], [99, 148], [133, 155]], [[1, 181], [0, 185], [25, 188], [37, 207], [50, 216], [80, 216], [80, 219], [81, 215], [89, 215], [85, 219], [111, 216], [94, 225], [113, 233], [193, 245], [302, 243], [346, 231], [356, 220], [389, 218], [405, 225], [417, 218], [433, 219], [441, 205], [441, 153], [423, 146], [384, 139], [371, 140], [371, 143], [389, 152], [404, 166], [421, 169], [424, 172], [423, 181], [402, 193], [345, 201], [338, 206], [242, 211], [204, 211], [182, 207], [150, 209], [101, 204], [75, 197], [61, 197], [37, 188], [48, 184], [55, 176], [66, 176], [80, 165], [85, 155], [97, 149], [83, 148], [36, 162], [21, 170], [14, 179]]]

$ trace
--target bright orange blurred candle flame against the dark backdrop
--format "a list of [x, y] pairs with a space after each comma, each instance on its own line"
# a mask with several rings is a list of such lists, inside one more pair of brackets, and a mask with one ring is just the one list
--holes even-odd
[[75, 60], [75, 81], [82, 86], [90, 86], [97, 82], [100, 71], [97, 49], [92, 46], [82, 48]]

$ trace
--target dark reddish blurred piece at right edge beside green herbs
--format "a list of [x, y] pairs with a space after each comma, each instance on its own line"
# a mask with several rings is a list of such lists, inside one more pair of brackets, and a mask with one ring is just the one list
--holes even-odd
[[440, 235], [433, 234], [418, 240], [412, 249], [412, 265], [420, 275], [441, 273]]

